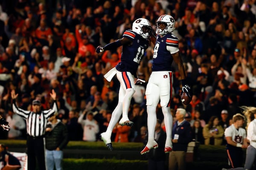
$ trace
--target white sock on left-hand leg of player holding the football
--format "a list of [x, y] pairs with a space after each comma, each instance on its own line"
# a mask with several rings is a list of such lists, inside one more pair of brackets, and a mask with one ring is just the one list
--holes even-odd
[[156, 106], [147, 106], [148, 113], [148, 139], [154, 139], [154, 130], [157, 124]]

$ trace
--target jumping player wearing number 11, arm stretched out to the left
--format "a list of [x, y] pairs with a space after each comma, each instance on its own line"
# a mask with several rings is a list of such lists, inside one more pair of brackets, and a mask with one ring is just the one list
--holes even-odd
[[[124, 32], [122, 39], [103, 46], [98, 46], [96, 52], [115, 49], [122, 45], [121, 61], [108, 71], [104, 77], [110, 82], [114, 75], [120, 82], [118, 104], [114, 109], [106, 132], [101, 133], [101, 139], [108, 149], [112, 150], [111, 133], [121, 114], [120, 125], [132, 126], [133, 122], [128, 119], [128, 110], [131, 98], [135, 92], [134, 85], [141, 80], [137, 79], [137, 69], [145, 50], [149, 45], [150, 22], [145, 18], [139, 18], [132, 24], [132, 30]], [[142, 80], [143, 81], [143, 80]]]

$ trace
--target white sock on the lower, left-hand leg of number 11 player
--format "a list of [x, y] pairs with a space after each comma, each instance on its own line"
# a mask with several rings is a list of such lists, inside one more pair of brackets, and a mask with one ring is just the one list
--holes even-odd
[[116, 123], [118, 122], [118, 120], [120, 119], [121, 114], [122, 114], [122, 102], [118, 102], [115, 110], [112, 113], [106, 133], [108, 134], [112, 133], [112, 130], [116, 126]]

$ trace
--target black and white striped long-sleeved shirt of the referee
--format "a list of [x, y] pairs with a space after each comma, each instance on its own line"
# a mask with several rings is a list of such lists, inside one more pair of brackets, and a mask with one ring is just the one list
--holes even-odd
[[47, 119], [53, 116], [53, 114], [58, 111], [56, 101], [54, 102], [52, 109], [49, 109], [47, 111], [41, 111], [40, 113], [25, 111], [21, 108], [18, 108], [16, 102], [13, 102], [12, 109], [15, 113], [17, 113], [26, 120], [27, 134], [33, 137], [39, 137], [44, 135], [47, 125]]

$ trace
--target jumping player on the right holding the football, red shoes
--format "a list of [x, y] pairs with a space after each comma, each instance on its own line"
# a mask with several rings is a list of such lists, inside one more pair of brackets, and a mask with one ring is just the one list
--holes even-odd
[[172, 97], [173, 81], [171, 65], [173, 61], [177, 63], [182, 79], [182, 91], [180, 95], [186, 92], [191, 97], [190, 87], [186, 82], [186, 73], [178, 48], [179, 40], [172, 34], [172, 31], [174, 30], [175, 20], [171, 15], [164, 14], [157, 19], [157, 37], [154, 45], [152, 73], [145, 91], [148, 113], [148, 143], [140, 154], [147, 153], [151, 148], [158, 147], [157, 142], [154, 140], [154, 128], [157, 121], [156, 107], [159, 100], [166, 127], [166, 143], [164, 152], [169, 153], [172, 151], [173, 119], [170, 111], [170, 102]]

